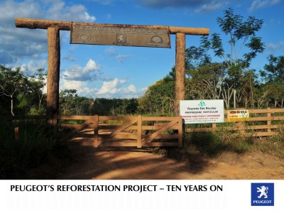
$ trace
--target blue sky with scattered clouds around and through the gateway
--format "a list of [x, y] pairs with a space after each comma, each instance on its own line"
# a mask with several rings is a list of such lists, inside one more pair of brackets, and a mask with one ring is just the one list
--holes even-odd
[[[27, 74], [47, 67], [47, 31], [16, 28], [16, 17], [87, 23], [185, 26], [221, 33], [216, 18], [229, 8], [263, 19], [257, 33], [266, 50], [253, 60], [263, 69], [268, 55], [284, 55], [283, 0], [0, 0], [0, 64], [25, 67]], [[228, 40], [226, 37], [222, 37]], [[70, 44], [70, 32], [60, 31], [60, 89], [77, 89], [86, 97], [139, 97], [175, 65], [172, 48], [136, 48]], [[199, 35], [186, 36], [186, 48], [200, 45]]]

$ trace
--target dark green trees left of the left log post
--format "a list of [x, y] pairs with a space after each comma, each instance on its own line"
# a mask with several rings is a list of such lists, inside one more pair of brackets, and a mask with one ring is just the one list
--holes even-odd
[[29, 77], [20, 67], [12, 70], [0, 65], [0, 114], [31, 114], [31, 109], [33, 113], [42, 111], [45, 76], [43, 69]]

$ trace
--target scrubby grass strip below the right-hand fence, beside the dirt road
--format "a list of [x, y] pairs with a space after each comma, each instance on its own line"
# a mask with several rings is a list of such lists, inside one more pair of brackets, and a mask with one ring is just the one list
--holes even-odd
[[[200, 127], [200, 126], [198, 126]], [[203, 127], [203, 126], [202, 126]], [[183, 148], [170, 151], [167, 155], [177, 152], [180, 155], [200, 156], [212, 158], [225, 152], [246, 153], [261, 151], [270, 155], [284, 158], [284, 125], [278, 129], [278, 134], [271, 137], [256, 138], [251, 135], [242, 135], [238, 131], [228, 130], [229, 125], [219, 126], [216, 132], [193, 132], [184, 133]], [[246, 131], [248, 134], [248, 131]], [[181, 158], [178, 156], [178, 158]], [[263, 163], [261, 159], [258, 163]]]

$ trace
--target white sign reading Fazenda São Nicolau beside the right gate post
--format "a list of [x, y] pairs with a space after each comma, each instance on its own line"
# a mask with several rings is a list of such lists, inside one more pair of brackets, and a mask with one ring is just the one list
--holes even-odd
[[180, 115], [185, 124], [224, 122], [224, 100], [180, 101]]

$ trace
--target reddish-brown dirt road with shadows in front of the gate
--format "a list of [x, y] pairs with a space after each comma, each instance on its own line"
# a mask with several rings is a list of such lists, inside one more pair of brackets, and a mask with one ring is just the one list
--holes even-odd
[[284, 160], [263, 153], [222, 153], [214, 158], [166, 158], [141, 149], [72, 146], [75, 163], [58, 179], [80, 180], [283, 180]]

